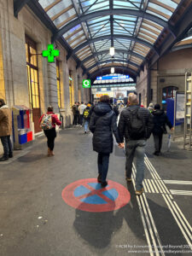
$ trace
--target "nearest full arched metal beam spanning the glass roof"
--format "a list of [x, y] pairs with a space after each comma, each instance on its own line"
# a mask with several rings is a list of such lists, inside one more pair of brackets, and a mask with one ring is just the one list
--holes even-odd
[[167, 29], [172, 32], [172, 34], [175, 34], [175, 29], [172, 25], [170, 25], [165, 20], [160, 19], [159, 17], [155, 15], [150, 15], [146, 12], [143, 12], [143, 10], [136, 10], [136, 9], [104, 9], [99, 10], [96, 12], [92, 12], [87, 15], [80, 15], [79, 18], [69, 22], [66, 26], [61, 27], [61, 29], [56, 32], [53, 37], [52, 41], [54, 42], [57, 38], [61, 38], [63, 34], [65, 34], [67, 31], [72, 29], [75, 26], [78, 26], [81, 22], [84, 22], [86, 20], [91, 20], [97, 17], [103, 17], [108, 15], [133, 15], [137, 17], [141, 17], [143, 19], [154, 21], [155, 23], [159, 24], [160, 26], [166, 27]]

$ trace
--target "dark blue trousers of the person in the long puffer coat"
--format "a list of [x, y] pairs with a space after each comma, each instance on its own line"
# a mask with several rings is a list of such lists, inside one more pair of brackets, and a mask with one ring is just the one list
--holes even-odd
[[99, 153], [97, 164], [98, 164], [98, 172], [102, 175], [102, 183], [106, 181], [106, 177], [108, 175], [108, 162], [109, 162], [109, 153]]

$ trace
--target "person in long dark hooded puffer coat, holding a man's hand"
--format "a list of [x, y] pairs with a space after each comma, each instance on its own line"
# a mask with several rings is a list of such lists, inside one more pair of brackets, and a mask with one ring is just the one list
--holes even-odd
[[106, 187], [106, 177], [108, 174], [109, 154], [113, 152], [113, 134], [117, 143], [120, 143], [117, 128], [117, 117], [109, 105], [110, 98], [104, 95], [100, 102], [93, 109], [90, 118], [90, 131], [93, 133], [93, 150], [98, 153], [97, 180], [102, 183], [102, 188]]

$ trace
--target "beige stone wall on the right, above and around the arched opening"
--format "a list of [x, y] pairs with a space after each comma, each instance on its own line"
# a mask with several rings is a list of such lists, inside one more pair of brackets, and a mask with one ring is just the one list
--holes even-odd
[[[180, 49], [170, 52], [150, 68], [150, 89], [153, 90], [153, 99], [149, 102], [162, 102], [162, 90], [168, 86], [176, 86], [178, 91], [184, 91], [185, 72], [192, 71], [192, 49]], [[141, 93], [143, 105], [146, 107], [148, 95], [148, 69], [137, 78], [137, 93]]]

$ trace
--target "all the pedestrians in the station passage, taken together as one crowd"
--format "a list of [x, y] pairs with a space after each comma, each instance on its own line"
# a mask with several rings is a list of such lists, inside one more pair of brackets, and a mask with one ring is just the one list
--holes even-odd
[[[102, 188], [108, 185], [108, 164], [110, 154], [113, 153], [113, 135], [119, 148], [125, 149], [125, 180], [131, 182], [132, 163], [136, 157], [136, 195], [143, 194], [144, 153], [148, 138], [153, 134], [154, 155], [160, 155], [163, 134], [166, 134], [166, 125], [173, 131], [172, 123], [167, 118], [159, 104], [149, 104], [143, 108], [137, 101], [137, 93], [130, 93], [127, 106], [123, 102], [118, 105], [110, 104], [107, 95], [101, 96], [100, 101], [92, 105], [91, 102], [75, 102], [72, 107], [73, 125], [83, 126], [84, 133], [90, 130], [93, 134], [93, 150], [98, 153], [98, 183]], [[118, 118], [119, 117], [119, 118]], [[54, 156], [56, 125], [61, 121], [49, 106], [39, 120], [40, 127], [47, 137], [48, 156]], [[0, 161], [13, 157], [13, 148], [10, 140], [12, 131], [12, 115], [3, 99], [0, 99], [0, 138], [3, 144], [3, 157]]]

